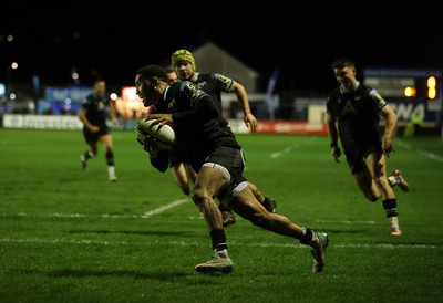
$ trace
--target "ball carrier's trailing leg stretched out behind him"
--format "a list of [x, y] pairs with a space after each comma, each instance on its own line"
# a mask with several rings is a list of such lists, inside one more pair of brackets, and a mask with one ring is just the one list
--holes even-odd
[[321, 272], [324, 267], [324, 253], [329, 238], [324, 232], [300, 227], [289, 218], [269, 212], [255, 197], [251, 188], [246, 181], [240, 182], [233, 189], [229, 206], [240, 217], [249, 220], [253, 224], [267, 229], [278, 234], [297, 239], [300, 243], [309, 245], [313, 257], [313, 272]]

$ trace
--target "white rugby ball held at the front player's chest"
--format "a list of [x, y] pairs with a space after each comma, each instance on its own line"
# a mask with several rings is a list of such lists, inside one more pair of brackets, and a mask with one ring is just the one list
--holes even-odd
[[143, 144], [146, 137], [155, 138], [158, 150], [168, 150], [175, 144], [174, 128], [168, 124], [154, 124], [155, 119], [140, 118], [135, 124], [137, 142]]

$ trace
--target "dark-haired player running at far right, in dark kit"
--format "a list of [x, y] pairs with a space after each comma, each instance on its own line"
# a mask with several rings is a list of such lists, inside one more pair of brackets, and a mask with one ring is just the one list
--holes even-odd
[[[398, 185], [408, 191], [409, 185], [398, 169], [387, 177], [387, 157], [395, 150], [392, 138], [396, 130], [396, 115], [375, 90], [357, 80], [356, 64], [351, 59], [338, 59], [331, 67], [339, 83], [327, 98], [331, 155], [339, 163], [340, 138], [357, 186], [372, 202], [382, 198], [391, 234], [400, 236], [402, 231], [392, 187]], [[383, 134], [379, 129], [380, 116], [385, 122]]]

